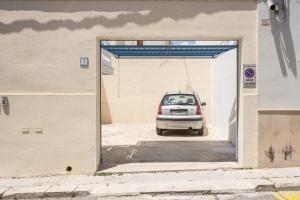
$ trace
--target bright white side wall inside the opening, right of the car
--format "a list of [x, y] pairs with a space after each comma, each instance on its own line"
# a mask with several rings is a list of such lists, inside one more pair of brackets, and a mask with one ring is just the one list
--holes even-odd
[[211, 60], [212, 132], [237, 139], [237, 49]]

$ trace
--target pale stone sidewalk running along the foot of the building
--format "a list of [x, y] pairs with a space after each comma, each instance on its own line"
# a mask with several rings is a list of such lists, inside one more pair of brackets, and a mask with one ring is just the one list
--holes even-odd
[[299, 189], [300, 168], [0, 178], [3, 199], [159, 193], [236, 194]]

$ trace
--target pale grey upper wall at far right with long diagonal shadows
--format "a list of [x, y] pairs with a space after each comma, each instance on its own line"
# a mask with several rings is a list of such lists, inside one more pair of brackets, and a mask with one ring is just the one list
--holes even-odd
[[[275, 15], [259, 3], [259, 107], [300, 109], [300, 2]], [[272, 99], [272, 101], [270, 101]]]

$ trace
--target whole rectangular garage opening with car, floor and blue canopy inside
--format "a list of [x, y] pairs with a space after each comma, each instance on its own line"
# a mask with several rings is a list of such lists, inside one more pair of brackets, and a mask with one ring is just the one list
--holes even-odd
[[237, 167], [237, 41], [108, 41], [101, 170]]

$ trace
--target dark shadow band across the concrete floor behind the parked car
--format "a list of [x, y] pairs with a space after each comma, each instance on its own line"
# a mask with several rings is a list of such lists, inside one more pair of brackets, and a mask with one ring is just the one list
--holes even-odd
[[136, 145], [103, 146], [101, 170], [127, 163], [235, 162], [227, 141], [139, 141]]

